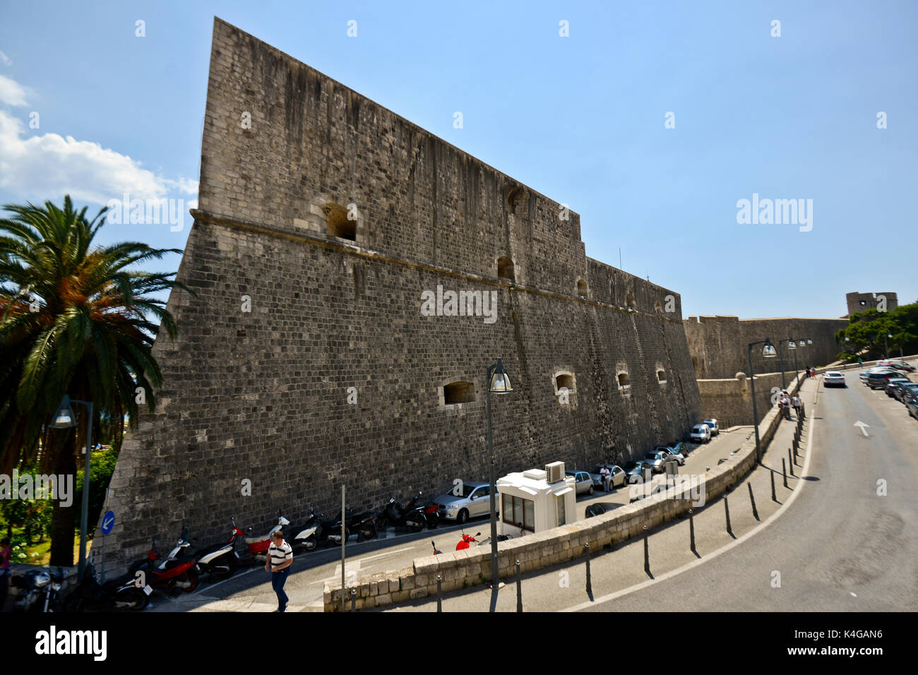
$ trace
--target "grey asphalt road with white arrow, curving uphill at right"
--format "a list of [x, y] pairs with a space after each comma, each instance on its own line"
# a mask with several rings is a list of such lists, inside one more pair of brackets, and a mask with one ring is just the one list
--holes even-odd
[[918, 421], [858, 372], [847, 388], [820, 388], [809, 464], [780, 517], [704, 564], [583, 609], [918, 610]]

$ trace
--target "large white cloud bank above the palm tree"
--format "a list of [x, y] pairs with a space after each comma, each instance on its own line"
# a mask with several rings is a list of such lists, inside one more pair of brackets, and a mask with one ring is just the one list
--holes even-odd
[[[4, 81], [22, 87], [0, 75], [0, 100]], [[6, 94], [15, 92], [7, 89]], [[77, 141], [56, 133], [25, 136], [21, 120], [0, 109], [0, 187], [31, 199], [56, 199], [69, 194], [74, 199], [105, 205], [109, 199], [160, 199], [179, 192], [197, 196], [197, 181], [164, 178], [141, 168], [128, 155], [106, 150], [92, 141]]]

